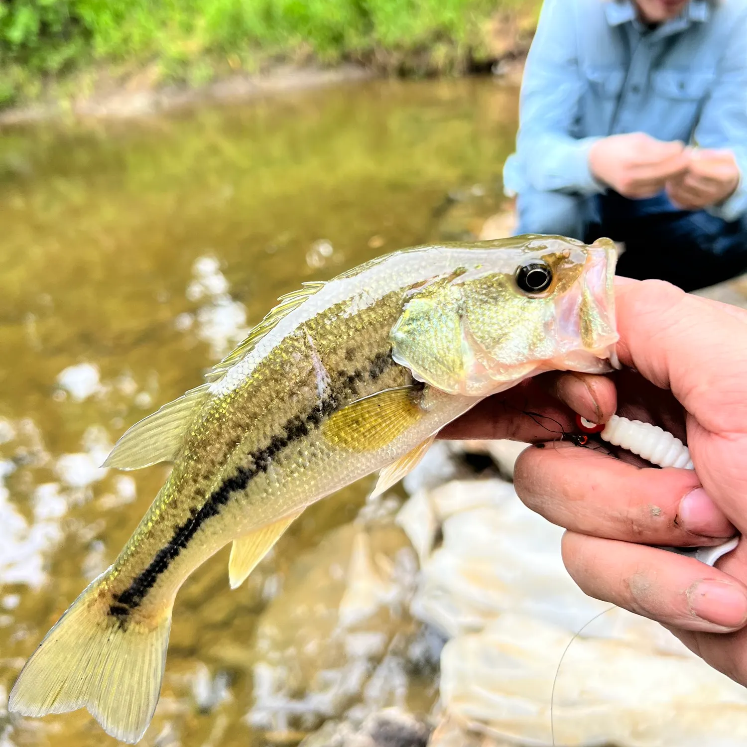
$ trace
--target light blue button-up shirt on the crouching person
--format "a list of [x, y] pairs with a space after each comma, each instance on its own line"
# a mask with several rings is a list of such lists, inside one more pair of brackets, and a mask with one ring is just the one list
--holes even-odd
[[506, 192], [603, 192], [589, 148], [636, 131], [733, 150], [740, 186], [708, 211], [728, 221], [747, 212], [747, 0], [690, 0], [653, 29], [630, 0], [545, 0]]

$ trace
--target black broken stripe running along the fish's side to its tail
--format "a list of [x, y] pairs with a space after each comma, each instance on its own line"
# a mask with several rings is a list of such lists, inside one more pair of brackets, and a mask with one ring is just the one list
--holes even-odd
[[[393, 365], [395, 364], [390, 353], [377, 353], [371, 361], [368, 376], [370, 379], [376, 380], [387, 368]], [[231, 477], [226, 478], [220, 487], [208, 496], [208, 500], [202, 504], [199, 510], [193, 510], [190, 518], [184, 524], [176, 527], [168, 544], [155, 554], [148, 567], [132, 580], [127, 589], [114, 595], [114, 604], [109, 607], [109, 614], [119, 619], [120, 623], [123, 622], [131, 610], [138, 607], [149, 590], [155, 586], [156, 580], [166, 571], [170, 562], [183, 549], [187, 548], [190, 539], [195, 536], [202, 524], [212, 516], [217, 516], [221, 507], [229, 502], [232, 495], [244, 491], [252, 477], [260, 472], [267, 472], [273, 463], [273, 459], [285, 447], [300, 438], [308, 436], [311, 430], [319, 427], [325, 418], [328, 418], [338, 409], [341, 401], [347, 399], [350, 395], [355, 397], [358, 391], [358, 382], [363, 378], [364, 374], [361, 371], [355, 371], [352, 374], [347, 371], [340, 371], [337, 379], [341, 382], [341, 387], [337, 394], [335, 392], [329, 394], [306, 415], [294, 415], [292, 418], [288, 418], [282, 426], [281, 436], [273, 436], [267, 446], [249, 454], [247, 463], [251, 466], [239, 467]]]

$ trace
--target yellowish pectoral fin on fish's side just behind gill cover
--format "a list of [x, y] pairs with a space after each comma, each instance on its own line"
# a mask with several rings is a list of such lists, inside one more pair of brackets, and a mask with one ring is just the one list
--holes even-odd
[[421, 388], [400, 386], [362, 397], [323, 425], [327, 441], [357, 452], [376, 451], [415, 425], [425, 411]]

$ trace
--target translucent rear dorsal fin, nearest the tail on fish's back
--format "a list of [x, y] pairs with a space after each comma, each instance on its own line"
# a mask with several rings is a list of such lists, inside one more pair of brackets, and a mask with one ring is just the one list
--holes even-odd
[[187, 429], [208, 397], [209, 389], [209, 384], [190, 389], [178, 400], [165, 404], [158, 412], [134, 424], [117, 441], [102, 466], [130, 470], [158, 462], [173, 462]]

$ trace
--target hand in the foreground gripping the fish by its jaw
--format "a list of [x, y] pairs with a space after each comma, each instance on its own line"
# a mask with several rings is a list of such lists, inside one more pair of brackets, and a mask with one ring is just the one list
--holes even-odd
[[[563, 560], [583, 591], [657, 620], [747, 684], [747, 542], [717, 568], [650, 546], [714, 545], [747, 532], [747, 312], [658, 281], [619, 282], [616, 304], [627, 370], [541, 376], [533, 386], [592, 421], [617, 410], [660, 425], [686, 441], [695, 471], [555, 441], [521, 453], [518, 495], [568, 529]], [[443, 436], [500, 438], [515, 430], [529, 440], [533, 434], [504, 412], [504, 398], [485, 400]]]

